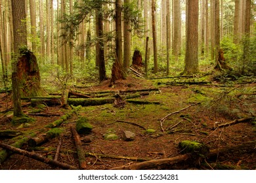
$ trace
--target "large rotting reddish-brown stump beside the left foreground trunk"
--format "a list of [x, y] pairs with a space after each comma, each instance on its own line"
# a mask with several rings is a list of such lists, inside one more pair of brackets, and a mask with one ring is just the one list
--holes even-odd
[[27, 48], [20, 50], [20, 58], [17, 61], [17, 79], [20, 84], [21, 97], [40, 96], [46, 93], [41, 88], [37, 58]]

